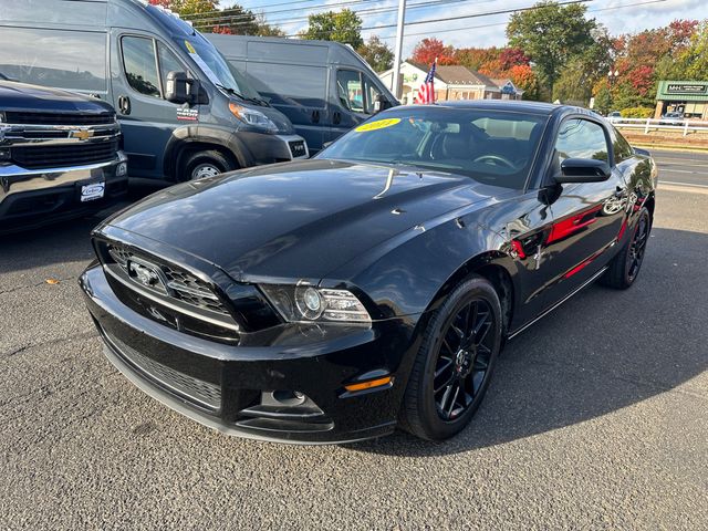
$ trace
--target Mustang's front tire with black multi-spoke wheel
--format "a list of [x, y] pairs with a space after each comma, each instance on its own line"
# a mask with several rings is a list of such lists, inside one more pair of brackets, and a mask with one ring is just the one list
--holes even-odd
[[499, 295], [481, 277], [461, 282], [434, 311], [406, 387], [404, 429], [441, 440], [469, 424], [501, 348], [501, 323]]

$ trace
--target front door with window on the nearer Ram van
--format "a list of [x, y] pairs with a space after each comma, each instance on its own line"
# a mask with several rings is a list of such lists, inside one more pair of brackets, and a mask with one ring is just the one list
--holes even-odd
[[175, 128], [197, 113], [165, 100], [170, 71], [187, 72], [176, 54], [154, 35], [112, 30], [112, 95], [123, 131], [132, 177], [163, 178], [163, 154]]

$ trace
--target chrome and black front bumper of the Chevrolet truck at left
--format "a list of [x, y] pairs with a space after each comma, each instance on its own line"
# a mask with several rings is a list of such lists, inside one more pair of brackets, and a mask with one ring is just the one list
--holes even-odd
[[[27, 169], [0, 165], [0, 232], [29, 229], [95, 211], [128, 189], [127, 157], [82, 166]], [[104, 197], [81, 201], [81, 187], [105, 183]]]

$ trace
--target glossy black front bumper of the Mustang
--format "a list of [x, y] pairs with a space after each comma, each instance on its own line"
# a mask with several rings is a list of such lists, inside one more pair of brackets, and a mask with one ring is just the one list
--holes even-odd
[[[406, 320], [372, 327], [287, 324], [258, 343], [228, 345], [152, 321], [113, 293], [103, 268], [82, 275], [108, 360], [148, 395], [208, 427], [246, 438], [341, 444], [392, 433], [413, 360]], [[347, 392], [389, 374], [393, 383]], [[273, 400], [298, 392], [304, 404]]]

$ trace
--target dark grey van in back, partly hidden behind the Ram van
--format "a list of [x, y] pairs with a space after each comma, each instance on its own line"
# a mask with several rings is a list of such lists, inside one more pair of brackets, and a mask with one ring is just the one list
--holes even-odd
[[207, 38], [290, 118], [313, 154], [378, 111], [398, 105], [368, 63], [339, 42]]

